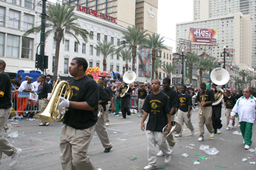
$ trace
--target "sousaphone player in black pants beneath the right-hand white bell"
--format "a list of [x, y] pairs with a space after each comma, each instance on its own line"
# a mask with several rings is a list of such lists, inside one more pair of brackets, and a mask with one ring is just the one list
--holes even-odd
[[[213, 90], [213, 94], [216, 94], [219, 92], [221, 92], [220, 89], [217, 88], [217, 85], [212, 83], [212, 90]], [[227, 97], [227, 94], [225, 94], [225, 92], [221, 92], [221, 94], [224, 97]], [[220, 133], [220, 129], [222, 127], [221, 124], [221, 105], [222, 103], [220, 102], [219, 104], [217, 104], [216, 106], [212, 106], [212, 127], [214, 129], [214, 133]]]

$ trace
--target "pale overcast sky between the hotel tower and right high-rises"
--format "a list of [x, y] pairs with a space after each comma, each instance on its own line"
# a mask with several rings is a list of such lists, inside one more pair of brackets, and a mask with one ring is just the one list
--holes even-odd
[[[164, 36], [164, 45], [172, 46], [175, 52], [176, 23], [193, 20], [192, 0], [158, 0], [157, 32]], [[169, 39], [168, 39], [169, 38]]]

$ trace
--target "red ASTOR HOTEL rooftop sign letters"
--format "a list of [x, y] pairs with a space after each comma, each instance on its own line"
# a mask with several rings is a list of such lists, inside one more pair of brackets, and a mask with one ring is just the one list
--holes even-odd
[[113, 22], [113, 23], [117, 24], [115, 17], [111, 17], [111, 16], [109, 16], [107, 14], [104, 14], [104, 13], [101, 13], [101, 12], [100, 12], [100, 15], [99, 15], [97, 10], [92, 10], [92, 9], [90, 9], [88, 7], [85, 7], [85, 6], [77, 5], [77, 11], [81, 11], [83, 13], [93, 15], [94, 17], [99, 17], [102, 20], [108, 20], [109, 22]]

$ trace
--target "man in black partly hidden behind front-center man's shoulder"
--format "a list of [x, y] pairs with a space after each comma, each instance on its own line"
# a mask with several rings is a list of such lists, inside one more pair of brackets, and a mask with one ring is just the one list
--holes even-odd
[[[175, 110], [178, 107], [178, 94], [177, 92], [175, 92], [175, 90], [173, 90], [172, 88], [170, 88], [170, 83], [171, 80], [170, 78], [166, 77], [163, 80], [163, 90], [161, 90], [161, 92], [164, 92], [164, 94], [166, 94], [168, 96], [168, 100], [169, 100], [169, 105], [171, 108], [171, 122], [174, 121], [174, 114], [175, 114]], [[172, 153], [174, 152], [174, 146], [175, 146], [175, 139], [173, 138], [173, 135], [170, 134], [166, 140], [169, 143], [170, 146], [170, 150], [172, 151]], [[161, 151], [161, 148], [159, 148], [159, 152], [157, 153], [157, 157], [163, 157], [164, 153]]]

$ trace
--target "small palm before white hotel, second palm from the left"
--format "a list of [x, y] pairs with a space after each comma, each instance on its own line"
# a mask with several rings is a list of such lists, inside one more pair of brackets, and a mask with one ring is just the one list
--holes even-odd
[[96, 50], [99, 51], [103, 55], [103, 71], [106, 71], [107, 68], [107, 62], [106, 59], [109, 55], [116, 52], [115, 45], [112, 45], [109, 41], [98, 41], [97, 45], [94, 47]]

